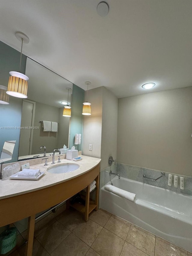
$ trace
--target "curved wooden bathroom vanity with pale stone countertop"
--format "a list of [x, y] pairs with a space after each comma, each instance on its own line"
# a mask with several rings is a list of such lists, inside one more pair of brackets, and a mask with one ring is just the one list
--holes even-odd
[[[29, 217], [26, 256], [32, 256], [36, 213], [67, 200], [84, 188], [86, 199], [82, 212], [85, 214], [85, 220], [88, 220], [88, 215], [93, 209], [98, 209], [100, 161], [99, 158], [82, 156], [82, 161], [76, 163], [79, 168], [67, 173], [47, 172], [52, 167], [49, 162], [48, 166], [39, 164], [30, 167], [45, 172], [37, 181], [0, 181], [0, 227]], [[62, 159], [61, 163], [54, 164], [54, 167], [67, 163], [74, 164], [74, 161]], [[91, 202], [89, 207], [90, 183], [94, 179], [97, 187], [95, 203]]]

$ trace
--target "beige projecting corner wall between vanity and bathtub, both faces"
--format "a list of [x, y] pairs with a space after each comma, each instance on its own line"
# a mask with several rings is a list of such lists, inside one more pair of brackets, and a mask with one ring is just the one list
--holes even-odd
[[[86, 98], [86, 97], [85, 97]], [[108, 158], [117, 155], [118, 99], [104, 86], [88, 91], [91, 116], [84, 116], [82, 155], [101, 158], [101, 170], [107, 168]], [[92, 144], [92, 151], [89, 151]]]

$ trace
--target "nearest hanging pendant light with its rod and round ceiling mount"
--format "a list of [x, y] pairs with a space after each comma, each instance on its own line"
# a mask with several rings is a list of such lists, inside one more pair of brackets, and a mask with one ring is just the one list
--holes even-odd
[[22, 32], [16, 32], [15, 36], [19, 41], [22, 42], [21, 43], [19, 72], [16, 72], [16, 71], [9, 72], [9, 74], [11, 76], [9, 77], [7, 94], [9, 94], [13, 97], [17, 97], [17, 98], [27, 98], [27, 87], [28, 87], [27, 81], [29, 80], [29, 77], [27, 77], [26, 75], [24, 75], [20, 72], [21, 72], [21, 59], [22, 59], [23, 43], [28, 44], [29, 38]]

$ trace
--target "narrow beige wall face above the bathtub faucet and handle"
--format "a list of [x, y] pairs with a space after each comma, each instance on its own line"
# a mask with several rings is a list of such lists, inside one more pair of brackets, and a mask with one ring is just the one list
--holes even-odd
[[117, 115], [118, 98], [103, 87], [101, 170], [109, 166], [110, 156], [117, 157]]

